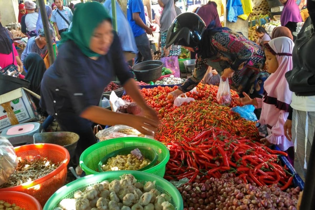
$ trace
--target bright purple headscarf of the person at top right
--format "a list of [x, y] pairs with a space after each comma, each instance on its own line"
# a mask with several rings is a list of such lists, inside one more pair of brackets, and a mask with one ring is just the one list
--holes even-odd
[[299, 6], [295, 3], [295, 0], [288, 0], [284, 4], [284, 9], [281, 13], [281, 26], [287, 25], [288, 22], [302, 22]]

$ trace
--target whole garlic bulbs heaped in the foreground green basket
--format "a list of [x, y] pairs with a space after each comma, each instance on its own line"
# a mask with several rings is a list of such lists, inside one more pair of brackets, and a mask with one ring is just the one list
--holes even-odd
[[171, 198], [155, 189], [155, 181], [137, 182], [131, 174], [76, 191], [54, 210], [175, 210]]

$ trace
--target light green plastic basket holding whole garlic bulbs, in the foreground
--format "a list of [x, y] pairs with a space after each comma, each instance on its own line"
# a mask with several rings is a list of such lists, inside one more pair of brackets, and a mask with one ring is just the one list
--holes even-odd
[[143, 171], [110, 171], [77, 179], [57, 190], [46, 202], [43, 210], [52, 210], [58, 207], [58, 204], [62, 199], [73, 198], [74, 192], [77, 190], [83, 190], [87, 186], [100, 183], [104, 180], [112, 181], [114, 179], [119, 179], [119, 177], [125, 173], [134, 175], [140, 182], [156, 181], [156, 189], [171, 197], [171, 203], [176, 210], [183, 210], [183, 199], [173, 184], [161, 177]]

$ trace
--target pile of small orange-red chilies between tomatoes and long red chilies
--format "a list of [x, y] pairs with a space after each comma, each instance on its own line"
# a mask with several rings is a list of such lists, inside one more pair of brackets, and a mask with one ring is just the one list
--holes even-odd
[[254, 122], [247, 121], [229, 107], [210, 100], [193, 101], [176, 107], [161, 120], [156, 139], [163, 143], [184, 140], [210, 128], [217, 127], [232, 135], [256, 139], [258, 130]]

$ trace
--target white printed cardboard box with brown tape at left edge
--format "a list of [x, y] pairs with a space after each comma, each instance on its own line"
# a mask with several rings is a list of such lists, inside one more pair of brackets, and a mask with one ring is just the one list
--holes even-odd
[[11, 125], [38, 120], [29, 90], [18, 88], [0, 95], [0, 132]]

